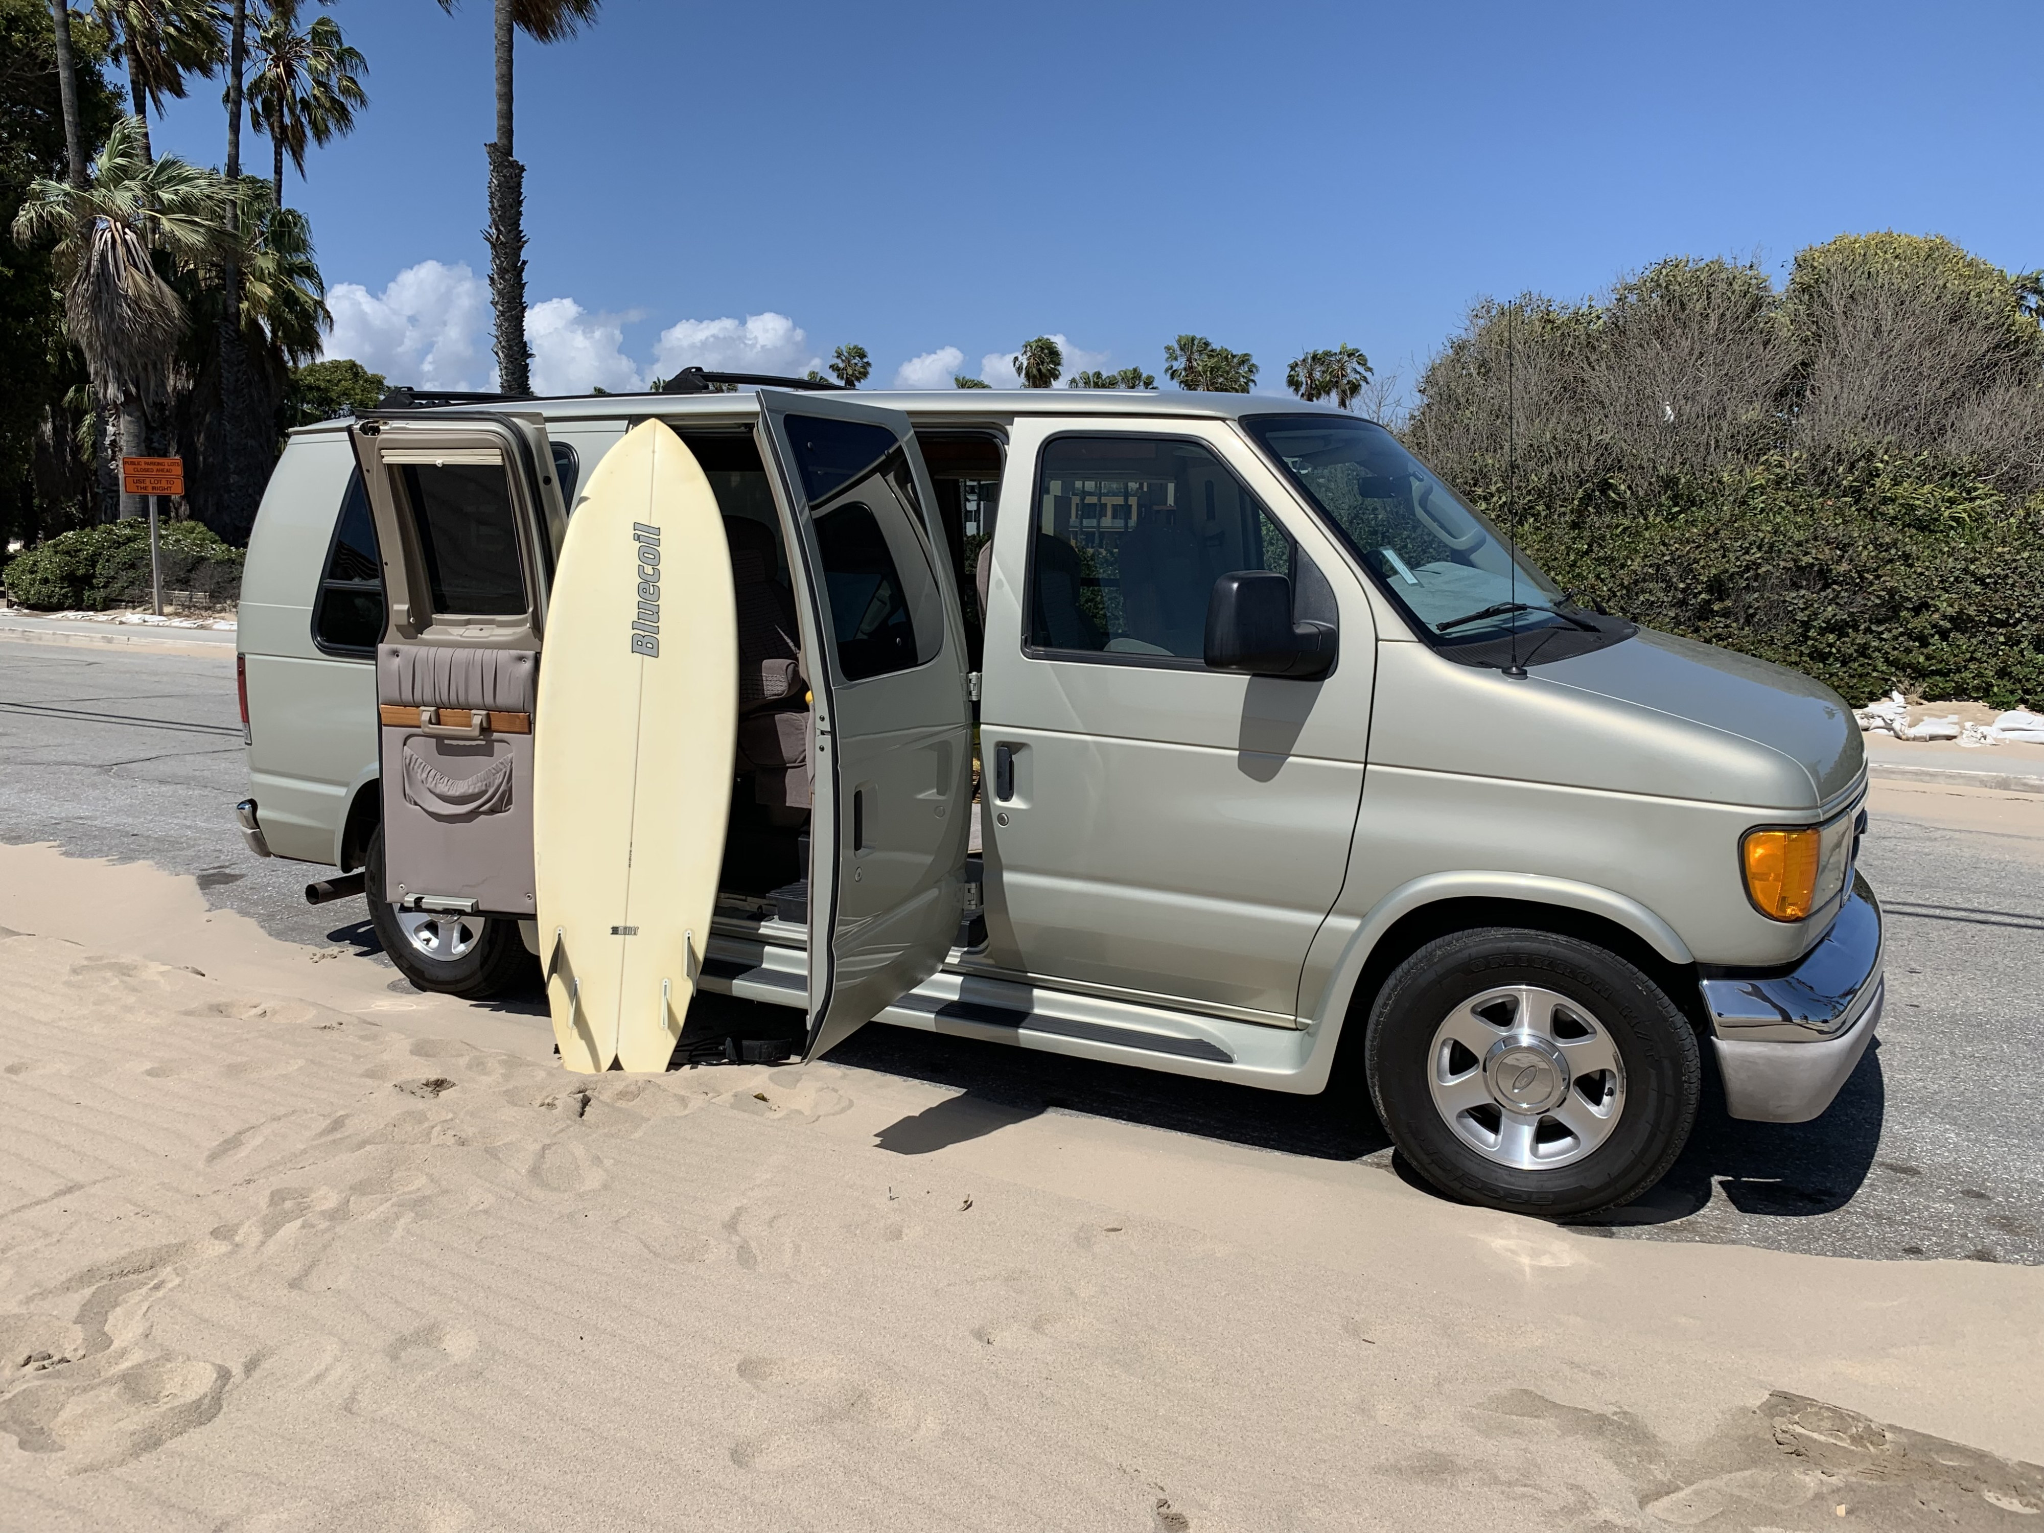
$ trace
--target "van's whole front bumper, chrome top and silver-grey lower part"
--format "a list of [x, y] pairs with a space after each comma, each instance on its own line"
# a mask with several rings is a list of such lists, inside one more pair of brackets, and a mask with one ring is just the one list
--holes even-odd
[[1852, 889], [1831, 930], [1788, 971], [1707, 971], [1725, 1110], [1756, 1122], [1809, 1122], [1852, 1075], [1880, 1022], [1880, 903], [1866, 879]]

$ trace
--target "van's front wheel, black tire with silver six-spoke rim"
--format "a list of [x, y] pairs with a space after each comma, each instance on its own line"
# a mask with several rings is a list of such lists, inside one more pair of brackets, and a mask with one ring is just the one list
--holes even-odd
[[[1645, 973], [1592, 942], [1502, 926], [1400, 963], [1369, 1010], [1363, 1065], [1419, 1175], [1541, 1218], [1615, 1208], [1660, 1181], [1703, 1096], [1697, 1034]], [[1500, 1112], [1515, 1089], [1527, 1110]]]

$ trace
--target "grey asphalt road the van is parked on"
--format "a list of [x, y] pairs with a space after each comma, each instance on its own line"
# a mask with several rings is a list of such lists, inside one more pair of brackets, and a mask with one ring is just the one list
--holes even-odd
[[[143, 858], [196, 877], [215, 905], [278, 938], [388, 965], [360, 901], [309, 908], [313, 869], [249, 856], [231, 814], [245, 791], [231, 660], [0, 638], [0, 840]], [[1891, 916], [1878, 1049], [1813, 1124], [1731, 1122], [1713, 1085], [1668, 1179], [1598, 1224], [1613, 1239], [2044, 1261], [2044, 840], [1876, 811], [1862, 867]], [[781, 1018], [750, 1016], [766, 1028]], [[732, 1018], [744, 1024], [748, 1008]], [[903, 1153], [1085, 1112], [1400, 1173], [1367, 1106], [1337, 1094], [1278, 1096], [885, 1026], [834, 1059], [965, 1091], [957, 1112], [903, 1128], [889, 1145]]]

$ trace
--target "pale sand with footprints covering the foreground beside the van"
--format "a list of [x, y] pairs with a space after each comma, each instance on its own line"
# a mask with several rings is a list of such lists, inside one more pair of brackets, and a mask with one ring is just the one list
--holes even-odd
[[2044, 1269], [830, 1063], [570, 1077], [51, 848], [0, 928], [6, 1529], [2040, 1527]]

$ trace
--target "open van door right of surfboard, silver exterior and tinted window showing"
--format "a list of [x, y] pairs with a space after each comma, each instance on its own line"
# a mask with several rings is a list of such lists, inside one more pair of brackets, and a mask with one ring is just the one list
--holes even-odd
[[973, 742], [965, 619], [910, 421], [760, 392], [816, 711], [814, 1059], [934, 975], [959, 934]]

